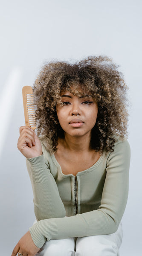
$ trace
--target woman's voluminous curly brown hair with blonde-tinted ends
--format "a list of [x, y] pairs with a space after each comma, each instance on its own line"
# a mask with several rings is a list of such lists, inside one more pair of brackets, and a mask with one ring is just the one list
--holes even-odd
[[43, 65], [33, 91], [37, 134], [46, 137], [50, 152], [57, 150], [58, 138], [64, 137], [56, 113], [63, 90], [78, 96], [85, 91], [96, 100], [99, 110], [91, 131], [92, 149], [100, 154], [103, 149], [112, 152], [117, 139], [127, 137], [128, 87], [118, 67], [107, 56], [89, 56], [74, 64], [52, 61]]

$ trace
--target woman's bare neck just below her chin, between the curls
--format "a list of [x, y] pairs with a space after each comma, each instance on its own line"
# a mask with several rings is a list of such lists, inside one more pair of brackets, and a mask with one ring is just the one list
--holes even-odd
[[63, 145], [69, 151], [74, 152], [82, 152], [82, 151], [90, 151], [90, 140], [91, 133], [86, 134], [82, 137], [72, 137], [69, 134], [64, 134]]

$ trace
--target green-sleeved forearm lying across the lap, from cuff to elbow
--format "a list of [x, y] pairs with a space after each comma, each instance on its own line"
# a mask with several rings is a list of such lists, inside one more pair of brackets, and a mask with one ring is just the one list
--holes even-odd
[[46, 239], [67, 239], [106, 235], [117, 230], [117, 224], [105, 212], [95, 210], [71, 217], [41, 220], [29, 228], [37, 247], [42, 247]]

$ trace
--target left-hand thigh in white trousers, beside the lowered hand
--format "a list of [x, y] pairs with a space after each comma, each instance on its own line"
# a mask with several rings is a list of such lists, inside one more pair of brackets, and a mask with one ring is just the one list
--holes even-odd
[[75, 238], [46, 241], [36, 256], [74, 256]]

